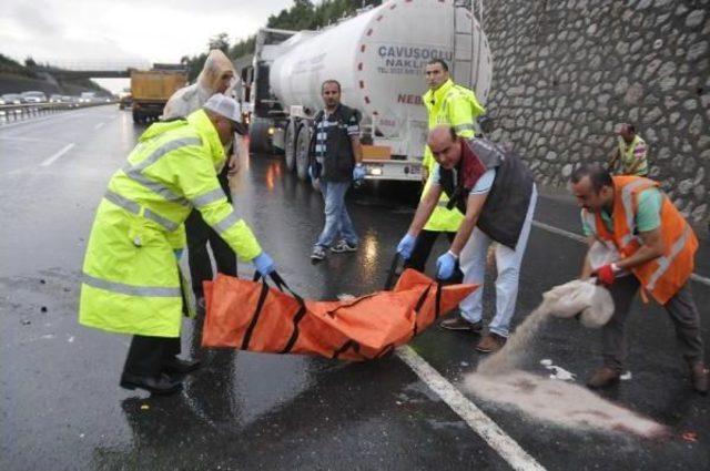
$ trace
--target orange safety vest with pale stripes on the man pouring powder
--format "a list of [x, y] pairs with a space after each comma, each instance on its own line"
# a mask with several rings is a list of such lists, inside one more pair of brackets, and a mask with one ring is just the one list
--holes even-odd
[[[630, 257], [643, 244], [636, 231], [638, 195], [643, 190], [660, 184], [641, 176], [613, 176], [613, 234], [610, 234], [599, 212], [585, 211], [585, 217], [594, 218], [597, 235], [612, 242], [622, 258]], [[646, 291], [661, 305], [666, 305], [686, 284], [693, 272], [698, 239], [686, 218], [663, 194], [661, 206], [661, 237], [663, 255], [631, 268]]]

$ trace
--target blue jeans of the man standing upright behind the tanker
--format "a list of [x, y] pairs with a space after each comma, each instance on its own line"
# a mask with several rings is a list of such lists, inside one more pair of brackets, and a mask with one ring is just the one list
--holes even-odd
[[349, 186], [351, 182], [321, 181], [321, 193], [325, 201], [325, 226], [315, 245], [327, 248], [338, 240], [338, 236], [351, 245], [357, 245], [358, 237], [345, 207], [345, 193]]

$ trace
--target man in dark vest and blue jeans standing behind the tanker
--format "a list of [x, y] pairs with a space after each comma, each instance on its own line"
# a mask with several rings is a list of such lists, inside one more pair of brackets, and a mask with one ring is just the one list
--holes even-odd
[[335, 253], [357, 250], [358, 237], [345, 207], [345, 193], [353, 180], [365, 177], [358, 113], [341, 103], [337, 81], [323, 82], [321, 94], [325, 110], [316, 114], [313, 123], [310, 173], [320, 181], [325, 226], [311, 254], [314, 263], [325, 258], [327, 248]]

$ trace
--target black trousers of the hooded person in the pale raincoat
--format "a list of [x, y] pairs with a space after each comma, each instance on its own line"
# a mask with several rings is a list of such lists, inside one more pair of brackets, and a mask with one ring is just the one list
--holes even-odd
[[[232, 202], [230, 192], [230, 181], [227, 178], [227, 167], [219, 175], [220, 185], [226, 195], [226, 199]], [[187, 262], [190, 263], [190, 278], [192, 279], [192, 290], [195, 297], [204, 296], [202, 281], [213, 278], [212, 262], [207, 252], [207, 243], [212, 247], [217, 272], [230, 276], [236, 276], [236, 254], [230, 245], [220, 237], [207, 223], [202, 218], [197, 209], [193, 209], [185, 221], [185, 232], [187, 234]]]

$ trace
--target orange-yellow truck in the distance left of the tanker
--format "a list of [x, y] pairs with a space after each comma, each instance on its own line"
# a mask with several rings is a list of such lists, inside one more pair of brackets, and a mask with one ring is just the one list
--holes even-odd
[[131, 71], [133, 122], [156, 120], [170, 96], [187, 84], [187, 72], [179, 68], [154, 68], [149, 71]]

